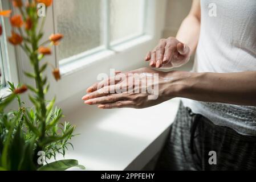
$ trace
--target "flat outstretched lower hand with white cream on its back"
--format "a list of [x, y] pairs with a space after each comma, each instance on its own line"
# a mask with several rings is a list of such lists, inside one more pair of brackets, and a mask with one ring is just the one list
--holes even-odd
[[[139, 75], [139, 81], [132, 78], [132, 82], [129, 82], [132, 75], [133, 78]], [[175, 72], [172, 72], [172, 77], [168, 77], [170, 73], [154, 71], [150, 68], [118, 73], [115, 76], [115, 80], [118, 81], [113, 81], [113, 85], [111, 78], [96, 83], [87, 89], [88, 94], [82, 99], [85, 104], [99, 105], [101, 109], [150, 107], [173, 98], [173, 89], [169, 84], [175, 79], [174, 75]]]

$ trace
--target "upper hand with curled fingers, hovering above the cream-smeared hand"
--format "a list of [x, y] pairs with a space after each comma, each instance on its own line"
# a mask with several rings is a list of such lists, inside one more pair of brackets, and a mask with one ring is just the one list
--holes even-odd
[[188, 63], [190, 48], [176, 38], [161, 39], [153, 51], [149, 51], [145, 61], [149, 61], [151, 67], [177, 68]]

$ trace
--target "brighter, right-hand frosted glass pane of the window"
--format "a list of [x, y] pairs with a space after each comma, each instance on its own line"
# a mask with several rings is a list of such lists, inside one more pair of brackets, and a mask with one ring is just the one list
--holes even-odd
[[143, 33], [145, 0], [110, 0], [111, 42]]

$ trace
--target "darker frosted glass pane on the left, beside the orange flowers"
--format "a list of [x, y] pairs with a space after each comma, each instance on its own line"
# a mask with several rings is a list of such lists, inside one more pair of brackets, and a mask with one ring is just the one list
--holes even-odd
[[55, 5], [57, 31], [64, 34], [59, 60], [103, 44], [101, 0], [55, 0]]

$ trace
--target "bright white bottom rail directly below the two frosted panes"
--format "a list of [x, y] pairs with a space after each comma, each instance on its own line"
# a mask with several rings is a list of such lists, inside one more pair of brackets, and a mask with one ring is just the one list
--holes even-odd
[[80, 57], [70, 61], [70, 63], [60, 64], [60, 73], [62, 77], [76, 73], [84, 68], [90, 67], [92, 64], [99, 63], [103, 60], [111, 60], [117, 54], [128, 50], [129, 48], [134, 48], [135, 46], [140, 46], [140, 44], [147, 43], [153, 38], [149, 35], [143, 35], [139, 38], [129, 40], [128, 42], [118, 44], [113, 46], [112, 49], [103, 49], [99, 52], [90, 54], [89, 56]]

